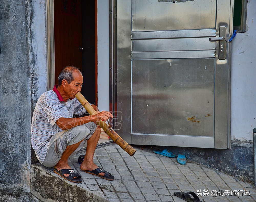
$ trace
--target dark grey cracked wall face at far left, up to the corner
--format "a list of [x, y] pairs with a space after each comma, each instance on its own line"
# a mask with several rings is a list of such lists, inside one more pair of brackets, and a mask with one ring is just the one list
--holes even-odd
[[23, 0], [0, 0], [0, 186], [27, 182], [29, 174], [31, 109], [26, 6]]

